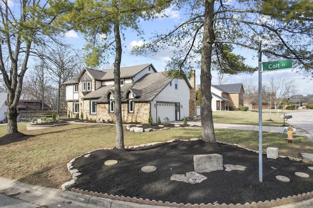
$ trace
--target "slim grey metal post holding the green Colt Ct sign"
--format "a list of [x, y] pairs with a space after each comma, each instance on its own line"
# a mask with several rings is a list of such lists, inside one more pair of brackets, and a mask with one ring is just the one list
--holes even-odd
[[263, 182], [263, 161], [262, 161], [262, 40], [259, 49], [259, 181]]

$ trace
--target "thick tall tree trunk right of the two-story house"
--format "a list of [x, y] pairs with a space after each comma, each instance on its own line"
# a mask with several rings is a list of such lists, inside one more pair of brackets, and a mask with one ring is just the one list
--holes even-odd
[[201, 56], [201, 130], [202, 140], [205, 142], [216, 142], [211, 95], [211, 57], [213, 44], [213, 12], [214, 0], [204, 1], [204, 26]]

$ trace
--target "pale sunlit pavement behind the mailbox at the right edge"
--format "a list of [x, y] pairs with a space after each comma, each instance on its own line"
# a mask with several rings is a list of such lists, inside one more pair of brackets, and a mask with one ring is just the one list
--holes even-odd
[[307, 136], [313, 142], [313, 110], [297, 110], [293, 113], [292, 118], [286, 121], [299, 135]]

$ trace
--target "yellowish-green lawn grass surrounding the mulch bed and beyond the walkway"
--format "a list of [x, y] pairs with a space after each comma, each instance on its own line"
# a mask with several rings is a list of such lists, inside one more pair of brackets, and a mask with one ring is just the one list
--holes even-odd
[[[216, 123], [241, 123], [258, 125], [255, 112], [214, 112]], [[268, 115], [268, 114], [266, 114]], [[264, 116], [264, 119], [266, 116]], [[272, 113], [271, 126], [280, 126], [281, 118]], [[25, 141], [0, 146], [0, 177], [51, 188], [71, 179], [67, 163], [89, 151], [115, 147], [114, 125], [71, 124], [43, 130], [26, 130], [30, 123], [19, 123], [19, 131], [34, 135]], [[7, 132], [6, 125], [0, 125], [0, 137]], [[215, 129], [217, 141], [238, 144], [258, 150], [258, 132], [229, 129]], [[301, 152], [313, 153], [313, 144], [307, 138], [295, 136], [292, 144], [284, 140], [286, 134], [263, 133], [263, 151], [277, 147], [280, 155], [299, 157]], [[125, 146], [150, 142], [162, 142], [174, 138], [201, 137], [200, 128], [171, 129], [157, 132], [134, 133], [124, 129]]]

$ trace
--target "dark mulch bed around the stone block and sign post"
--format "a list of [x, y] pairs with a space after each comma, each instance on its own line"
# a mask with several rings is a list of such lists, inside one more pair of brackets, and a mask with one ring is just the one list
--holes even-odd
[[[193, 155], [218, 153], [223, 164], [246, 166], [245, 171], [218, 170], [201, 173], [207, 177], [199, 184], [171, 181], [176, 174], [194, 171]], [[104, 166], [106, 160], [115, 159], [118, 164]], [[130, 196], [156, 201], [177, 203], [244, 204], [276, 200], [313, 190], [313, 171], [308, 164], [290, 159], [268, 159], [263, 155], [263, 182], [259, 182], [258, 153], [233, 145], [212, 144], [199, 141], [178, 141], [152, 147], [127, 150], [97, 150], [89, 157], [78, 157], [73, 162], [78, 176], [76, 189], [97, 191], [119, 196]], [[144, 173], [146, 165], [156, 166], [152, 173]], [[300, 178], [294, 172], [311, 174]], [[279, 182], [276, 175], [287, 176], [290, 183]]]

